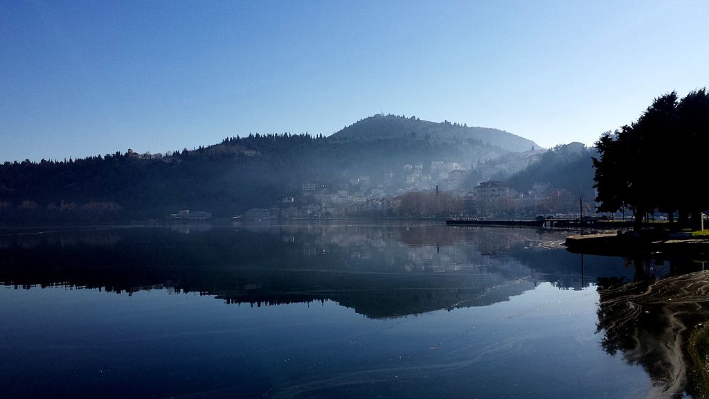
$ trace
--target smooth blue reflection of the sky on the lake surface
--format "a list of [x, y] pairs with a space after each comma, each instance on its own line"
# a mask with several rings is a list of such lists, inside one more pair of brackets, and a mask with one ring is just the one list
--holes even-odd
[[593, 288], [543, 283], [508, 302], [398, 319], [330, 301], [224, 306], [167, 290], [35, 288], [0, 299], [9, 397], [66, 384], [87, 397], [275, 398], [618, 398], [649, 387], [642, 369], [598, 345]]

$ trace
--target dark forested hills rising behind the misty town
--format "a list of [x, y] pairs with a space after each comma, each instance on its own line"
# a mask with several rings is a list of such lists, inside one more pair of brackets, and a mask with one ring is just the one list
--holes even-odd
[[[467, 168], [535, 143], [496, 129], [372, 116], [333, 136], [268, 134], [164, 154], [122, 153], [0, 165], [0, 222], [118, 222], [164, 219], [179, 209], [230, 217], [286, 197], [307, 204], [301, 187], [372, 187], [403, 165], [432, 161]], [[538, 146], [537, 146], [538, 148]]]

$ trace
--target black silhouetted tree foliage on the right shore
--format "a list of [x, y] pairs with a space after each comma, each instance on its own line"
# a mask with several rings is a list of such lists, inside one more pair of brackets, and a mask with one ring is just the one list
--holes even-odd
[[680, 222], [698, 219], [709, 208], [706, 169], [709, 96], [706, 89], [677, 98], [657, 97], [630, 126], [607, 133], [596, 143], [593, 180], [602, 212], [630, 209], [635, 221], [656, 210]]

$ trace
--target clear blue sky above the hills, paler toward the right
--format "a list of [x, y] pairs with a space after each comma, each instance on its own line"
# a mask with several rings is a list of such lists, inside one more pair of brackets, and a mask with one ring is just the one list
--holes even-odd
[[581, 141], [709, 86], [709, 1], [0, 0], [0, 162], [327, 136], [380, 111]]

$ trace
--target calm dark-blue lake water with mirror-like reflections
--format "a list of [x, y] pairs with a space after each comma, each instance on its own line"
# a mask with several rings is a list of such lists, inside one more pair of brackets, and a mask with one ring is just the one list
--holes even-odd
[[703, 395], [703, 264], [581, 256], [563, 239], [421, 223], [4, 229], [2, 396]]

